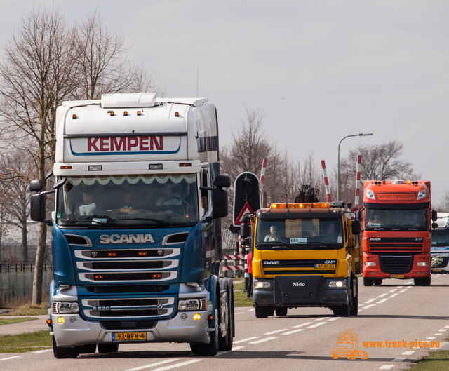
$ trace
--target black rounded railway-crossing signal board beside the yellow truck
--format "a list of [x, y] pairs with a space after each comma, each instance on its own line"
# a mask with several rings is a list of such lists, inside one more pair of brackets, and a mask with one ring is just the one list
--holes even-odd
[[241, 225], [241, 217], [260, 209], [259, 178], [254, 173], [241, 173], [234, 182], [233, 225]]

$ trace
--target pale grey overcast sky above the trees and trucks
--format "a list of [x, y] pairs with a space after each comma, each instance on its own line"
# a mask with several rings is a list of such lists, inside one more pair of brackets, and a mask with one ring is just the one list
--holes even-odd
[[[208, 97], [229, 144], [245, 107], [295, 158], [325, 160], [328, 175], [358, 144], [403, 142], [403, 159], [449, 191], [447, 0], [0, 0], [0, 35], [34, 8], [67, 22], [97, 10], [171, 97]], [[197, 72], [199, 72], [197, 86]], [[269, 158], [268, 158], [269, 161]], [[356, 158], [354, 158], [354, 166]], [[333, 195], [335, 198], [336, 195]]]

